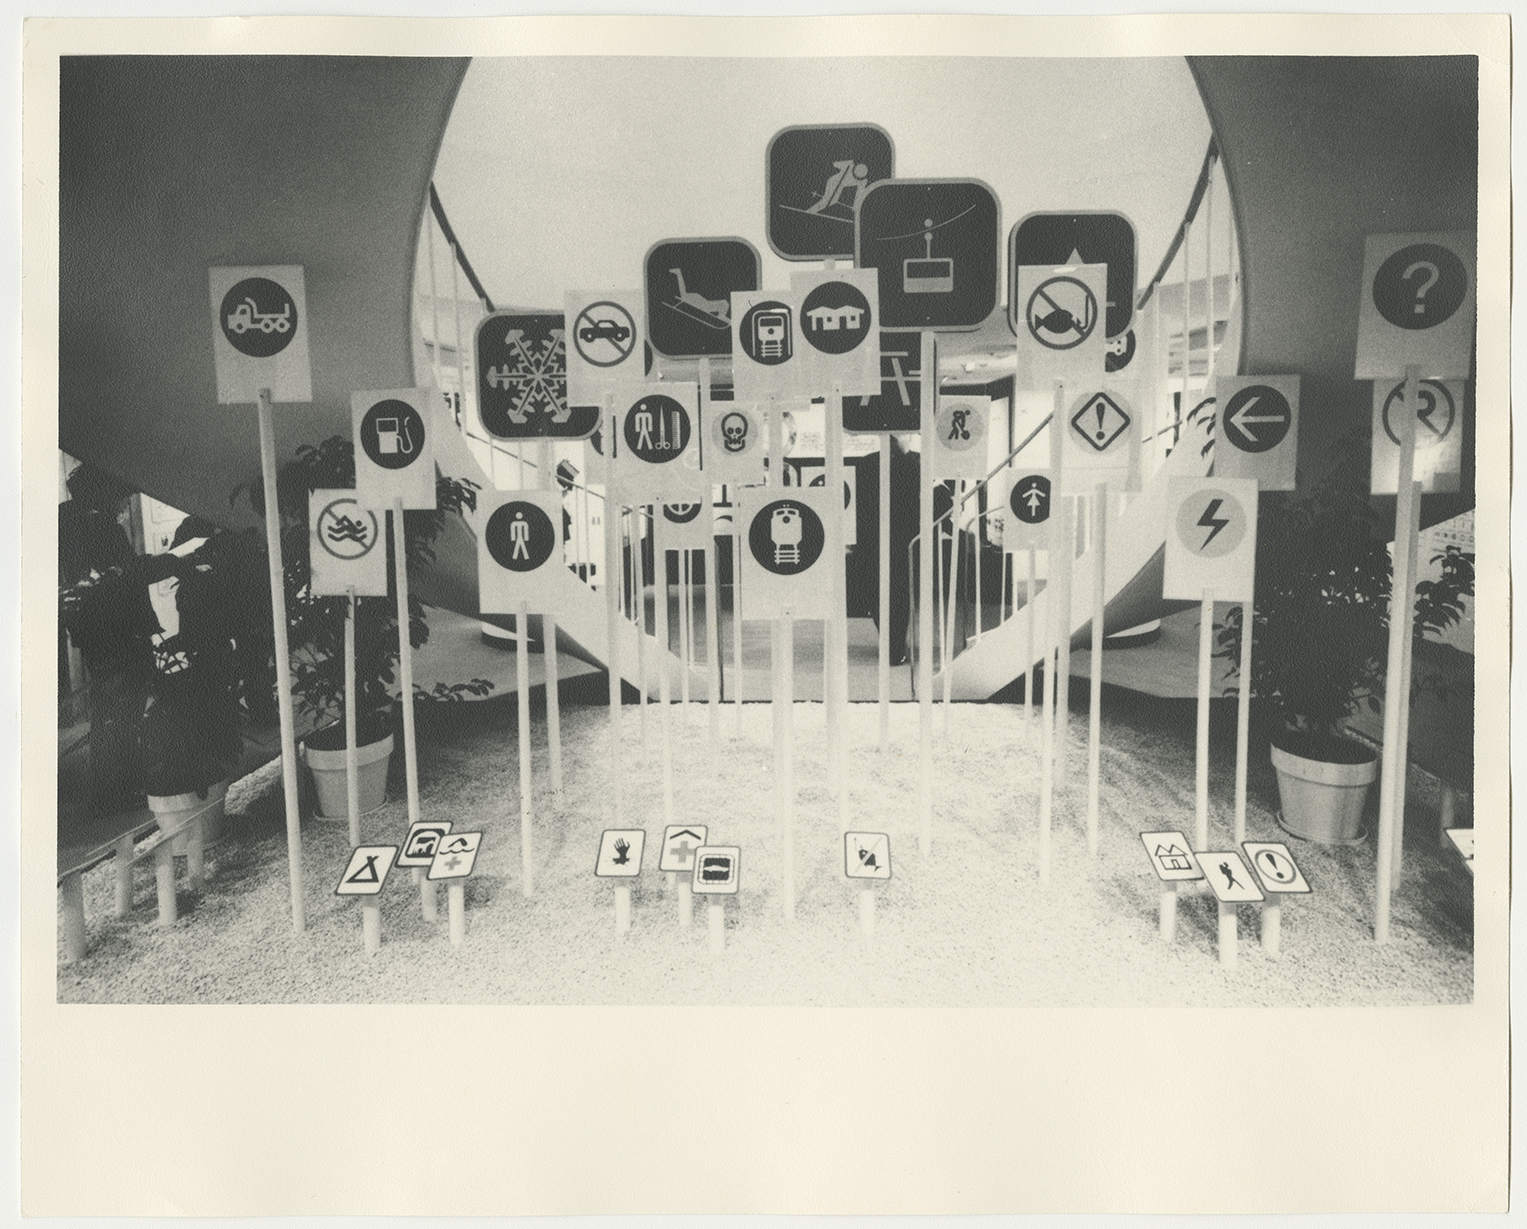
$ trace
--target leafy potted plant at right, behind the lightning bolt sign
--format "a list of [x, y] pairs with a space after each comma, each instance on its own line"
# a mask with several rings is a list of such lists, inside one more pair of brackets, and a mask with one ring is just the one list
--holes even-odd
[[[1362, 812], [1377, 777], [1374, 750], [1350, 737], [1359, 705], [1382, 710], [1390, 629], [1390, 547], [1368, 502], [1365, 441], [1309, 493], [1269, 492], [1257, 519], [1257, 598], [1251, 690], [1270, 742], [1280, 823], [1327, 844], [1362, 840]], [[1461, 615], [1474, 592], [1472, 556], [1449, 548], [1443, 579], [1417, 586], [1412, 635]], [[1217, 635], [1238, 685], [1243, 608]]]

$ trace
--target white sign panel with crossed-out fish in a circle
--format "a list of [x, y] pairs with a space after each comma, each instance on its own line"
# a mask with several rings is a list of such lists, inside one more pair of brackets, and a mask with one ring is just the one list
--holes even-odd
[[1106, 264], [1019, 266], [1019, 388], [1096, 386], [1107, 331]]

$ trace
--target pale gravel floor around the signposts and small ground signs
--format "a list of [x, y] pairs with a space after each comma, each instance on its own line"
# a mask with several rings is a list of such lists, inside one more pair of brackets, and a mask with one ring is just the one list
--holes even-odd
[[[780, 835], [773, 811], [768, 705], [721, 721], [712, 751], [705, 708], [673, 705], [675, 820], [705, 823], [715, 844], [742, 847], [742, 892], [727, 905], [725, 951], [707, 945], [705, 907], [683, 930], [676, 895], [657, 872], [663, 834], [658, 711], [643, 747], [625, 710], [623, 827], [646, 827], [644, 872], [632, 887], [632, 930], [617, 939], [608, 881], [594, 878], [606, 814], [606, 713], [567, 707], [565, 800], [547, 789], [545, 725], [533, 719], [534, 895], [519, 882], [519, 791], [510, 698], [458, 705], [420, 740], [426, 817], [486, 832], [466, 887], [466, 942], [420, 916], [406, 872], [382, 896], [383, 945], [368, 957], [359, 905], [333, 895], [347, 861], [344, 824], [304, 824], [307, 931], [292, 933], [281, 780], [276, 765], [229, 794], [223, 841], [202, 892], [180, 887], [180, 921], [156, 924], [151, 867], [140, 867], [131, 916], [111, 916], [110, 866], [86, 875], [87, 957], [64, 963], [58, 998], [72, 1003], [576, 1003], [820, 1006], [1303, 1006], [1466, 1003], [1474, 994], [1472, 885], [1454, 855], [1412, 844], [1396, 896], [1393, 937], [1371, 940], [1371, 844], [1325, 847], [1275, 823], [1270, 769], [1254, 757], [1248, 837], [1287, 840], [1315, 887], [1283, 910], [1283, 959], [1257, 942], [1255, 905], [1240, 908], [1240, 963], [1219, 965], [1215, 908], [1183, 893], [1177, 942], [1156, 933], [1157, 881], [1138, 832], [1193, 826], [1191, 704], [1104, 704], [1101, 850], [1086, 846], [1086, 714], [1073, 714], [1067, 789], [1057, 803], [1052, 879], [1037, 878], [1037, 733], [1022, 708], [960, 704], [935, 714], [933, 852], [916, 841], [918, 708], [892, 705], [892, 748], [878, 713], [851, 705], [852, 827], [887, 831], [895, 878], [876, 885], [873, 940], [858, 930], [858, 885], [843, 881], [837, 806], [826, 786], [823, 710], [797, 704], [796, 919], [780, 902]], [[1122, 699], [1121, 699], [1122, 696]], [[507, 702], [505, 702], [507, 701]], [[1232, 722], [1219, 721], [1211, 844], [1228, 847]], [[394, 771], [394, 786], [402, 786]], [[402, 789], [363, 821], [368, 843], [402, 840]], [[1435, 831], [1434, 827], [1431, 829]]]

